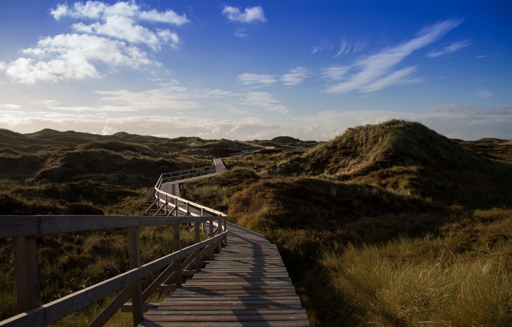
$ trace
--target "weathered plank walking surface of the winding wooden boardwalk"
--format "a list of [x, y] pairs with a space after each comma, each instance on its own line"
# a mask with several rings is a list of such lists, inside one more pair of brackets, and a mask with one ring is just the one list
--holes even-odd
[[[179, 183], [225, 169], [221, 159], [214, 162], [215, 174], [164, 183], [161, 189], [179, 196]], [[227, 227], [228, 246], [148, 311], [139, 326], [310, 326], [276, 246], [248, 229], [230, 223]]]

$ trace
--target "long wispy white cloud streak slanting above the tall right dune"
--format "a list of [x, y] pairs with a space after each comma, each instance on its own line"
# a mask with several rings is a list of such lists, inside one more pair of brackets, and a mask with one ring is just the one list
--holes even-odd
[[[421, 49], [441, 38], [448, 31], [462, 23], [462, 20], [449, 19], [422, 29], [415, 38], [394, 48], [357, 60], [349, 70], [359, 70], [346, 81], [332, 85], [325, 90], [328, 93], [346, 93], [350, 91], [373, 92], [386, 86], [417, 82], [408, 74], [414, 71], [408, 67], [392, 72], [394, 66], [413, 51]], [[358, 46], [357, 49], [359, 49]]]

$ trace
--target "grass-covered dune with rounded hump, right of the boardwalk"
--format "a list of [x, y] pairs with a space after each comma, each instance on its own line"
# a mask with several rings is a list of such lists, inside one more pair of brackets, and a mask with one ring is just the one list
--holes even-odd
[[318, 327], [508, 326], [512, 165], [461, 143], [389, 121], [226, 160], [259, 175], [228, 215], [278, 245]]

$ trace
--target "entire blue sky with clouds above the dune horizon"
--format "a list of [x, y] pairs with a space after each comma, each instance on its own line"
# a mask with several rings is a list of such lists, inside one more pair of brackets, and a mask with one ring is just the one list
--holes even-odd
[[0, 127], [512, 139], [508, 1], [3, 2]]

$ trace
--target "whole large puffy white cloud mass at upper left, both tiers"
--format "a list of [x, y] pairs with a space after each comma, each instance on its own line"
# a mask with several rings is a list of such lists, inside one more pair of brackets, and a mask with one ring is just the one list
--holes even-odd
[[135, 1], [121, 1], [114, 5], [98, 1], [88, 1], [85, 5], [77, 2], [73, 6], [64, 3], [57, 5], [50, 13], [57, 20], [69, 16], [97, 21], [89, 25], [82, 21], [73, 24], [71, 28], [77, 32], [75, 34], [41, 39], [36, 48], [22, 51], [29, 58], [0, 62], [0, 71], [5, 71], [7, 76], [18, 81], [33, 83], [37, 80], [101, 77], [103, 74], [98, 72], [96, 62], [107, 64], [111, 71], [113, 66], [159, 66], [159, 62], [147, 58], [147, 53], [139, 45], [155, 51], [161, 50], [163, 45], [177, 48], [180, 38], [175, 31], [160, 27], [150, 30], [141, 26], [139, 21], [177, 26], [189, 21], [185, 14], [180, 16], [172, 10], [144, 11]]

